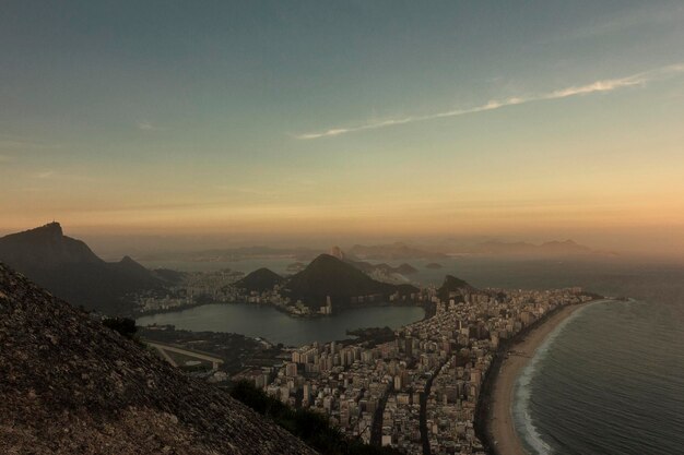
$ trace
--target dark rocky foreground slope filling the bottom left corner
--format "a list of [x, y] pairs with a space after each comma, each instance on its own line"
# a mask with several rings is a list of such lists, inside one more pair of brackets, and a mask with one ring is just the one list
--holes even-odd
[[3, 453], [315, 453], [1, 264], [0, 346]]

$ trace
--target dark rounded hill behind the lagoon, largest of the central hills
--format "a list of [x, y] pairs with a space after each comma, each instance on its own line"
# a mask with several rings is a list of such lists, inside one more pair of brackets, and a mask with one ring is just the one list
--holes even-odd
[[283, 294], [312, 308], [325, 306], [330, 296], [333, 306], [344, 308], [351, 304], [352, 297], [379, 295], [379, 298], [387, 298], [394, 292], [405, 295], [417, 290], [413, 286], [377, 282], [346, 262], [321, 254], [285, 283]]

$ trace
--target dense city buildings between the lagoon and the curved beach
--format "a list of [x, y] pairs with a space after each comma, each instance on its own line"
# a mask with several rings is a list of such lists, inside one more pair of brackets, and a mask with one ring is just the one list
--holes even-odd
[[397, 330], [390, 342], [314, 343], [292, 349], [275, 371], [251, 369], [234, 379], [321, 412], [365, 442], [408, 454], [423, 453], [424, 444], [433, 454], [484, 453], [475, 408], [499, 343], [554, 309], [591, 297], [580, 288], [459, 288], [444, 297], [424, 289], [421, 298], [436, 304], [436, 314]]

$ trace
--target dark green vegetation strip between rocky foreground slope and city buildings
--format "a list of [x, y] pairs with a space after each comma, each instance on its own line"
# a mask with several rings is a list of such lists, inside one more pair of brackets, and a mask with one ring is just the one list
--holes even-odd
[[332, 427], [326, 416], [308, 409], [293, 409], [247, 381], [237, 382], [231, 390], [233, 398], [303, 440], [325, 455], [399, 455], [390, 447], [376, 447], [361, 440], [350, 440]]

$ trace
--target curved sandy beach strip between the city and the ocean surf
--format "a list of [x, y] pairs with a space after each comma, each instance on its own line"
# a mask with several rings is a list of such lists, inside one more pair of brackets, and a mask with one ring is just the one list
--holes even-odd
[[510, 406], [514, 399], [514, 385], [520, 370], [534, 356], [534, 351], [544, 338], [573, 312], [585, 307], [587, 303], [566, 307], [552, 315], [541, 326], [530, 332], [524, 340], [516, 344], [508, 359], [504, 360], [496, 376], [492, 392], [492, 415], [488, 422], [492, 441], [500, 455], [527, 455], [522, 443], [514, 429]]

